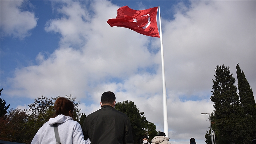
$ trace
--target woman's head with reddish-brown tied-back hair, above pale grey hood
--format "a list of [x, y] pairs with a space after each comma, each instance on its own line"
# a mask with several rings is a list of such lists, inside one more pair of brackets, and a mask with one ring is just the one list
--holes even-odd
[[54, 104], [55, 116], [63, 114], [73, 118], [74, 104], [65, 97], [59, 97]]

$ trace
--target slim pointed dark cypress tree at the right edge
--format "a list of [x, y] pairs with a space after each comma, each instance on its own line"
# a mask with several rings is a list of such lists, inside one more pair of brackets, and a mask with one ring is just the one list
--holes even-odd
[[252, 93], [252, 89], [247, 79], [245, 78], [244, 71], [241, 72], [240, 66], [236, 65], [236, 75], [237, 75], [237, 86], [239, 90], [239, 97], [241, 106], [244, 109], [246, 115], [246, 125], [247, 125], [247, 139], [253, 140], [256, 138], [256, 109], [255, 100]]

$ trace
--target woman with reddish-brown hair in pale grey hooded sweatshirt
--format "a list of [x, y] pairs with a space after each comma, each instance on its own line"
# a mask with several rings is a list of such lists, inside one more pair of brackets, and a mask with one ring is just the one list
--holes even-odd
[[62, 144], [90, 144], [90, 140], [84, 140], [80, 124], [73, 121], [74, 104], [65, 97], [59, 97], [54, 104], [55, 118], [49, 119], [37, 131], [31, 144], [56, 143], [53, 125], [57, 123], [60, 142]]

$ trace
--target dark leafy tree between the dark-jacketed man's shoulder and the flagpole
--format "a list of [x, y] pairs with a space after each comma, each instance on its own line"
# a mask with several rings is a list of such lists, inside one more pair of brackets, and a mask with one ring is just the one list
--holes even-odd
[[157, 135], [155, 124], [148, 122], [146, 117], [143, 116], [144, 112], [140, 112], [140, 110], [136, 107], [136, 105], [128, 100], [124, 102], [116, 103], [116, 110], [125, 113], [132, 125], [132, 135], [134, 143], [140, 143], [140, 139], [143, 135], [147, 135], [147, 127], [150, 139]]

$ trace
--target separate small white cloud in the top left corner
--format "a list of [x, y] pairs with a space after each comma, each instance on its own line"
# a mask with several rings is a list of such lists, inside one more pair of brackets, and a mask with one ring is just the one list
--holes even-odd
[[23, 10], [26, 5], [32, 6], [29, 1], [0, 1], [1, 37], [13, 36], [23, 39], [31, 35], [29, 31], [36, 27], [38, 18], [33, 12]]

